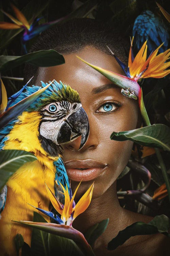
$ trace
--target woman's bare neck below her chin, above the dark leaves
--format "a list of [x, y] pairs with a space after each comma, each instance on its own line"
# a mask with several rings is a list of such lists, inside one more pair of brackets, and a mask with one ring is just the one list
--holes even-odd
[[101, 197], [91, 200], [87, 210], [74, 220], [73, 227], [85, 233], [89, 227], [107, 218], [109, 218], [109, 224], [105, 232], [112, 230], [113, 238], [114, 234], [116, 235], [122, 229], [124, 218], [124, 209], [117, 198], [116, 182]]

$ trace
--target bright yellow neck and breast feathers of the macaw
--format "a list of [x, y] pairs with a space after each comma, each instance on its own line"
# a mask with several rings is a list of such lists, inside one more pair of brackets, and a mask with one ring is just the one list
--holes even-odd
[[[18, 119], [19, 121], [8, 134], [3, 149], [26, 150], [32, 152], [38, 160], [24, 164], [7, 182], [6, 204], [0, 220], [0, 250], [1, 255], [8, 253], [12, 256], [16, 255], [12, 239], [20, 233], [24, 241], [30, 245], [31, 229], [11, 221], [33, 220], [33, 211], [37, 210], [28, 203], [49, 210], [50, 199], [44, 182], [48, 182], [48, 187], [54, 193], [53, 161], [58, 159], [48, 156], [38, 140], [38, 126], [41, 119], [38, 112], [23, 112]], [[44, 218], [49, 221], [46, 215]]]

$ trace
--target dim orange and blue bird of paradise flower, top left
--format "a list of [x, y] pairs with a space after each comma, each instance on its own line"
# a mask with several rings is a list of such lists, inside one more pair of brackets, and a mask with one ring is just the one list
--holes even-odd
[[22, 45], [24, 48], [24, 51], [27, 53], [27, 49], [26, 49], [26, 42], [30, 39], [32, 39], [33, 37], [35, 37], [36, 35], [40, 34], [41, 32], [45, 31], [46, 29], [48, 29], [49, 27], [51, 27], [52, 25], [60, 22], [62, 19], [64, 19], [64, 17], [54, 20], [52, 22], [47, 22], [44, 24], [40, 24], [37, 25], [38, 21], [41, 18], [37, 18], [32, 19], [31, 22], [29, 23], [28, 20], [26, 19], [26, 17], [23, 15], [22, 12], [20, 12], [18, 10], [18, 8], [11, 4], [12, 9], [17, 17], [14, 18], [12, 15], [4, 12], [3, 10], [1, 10], [8, 18], [10, 18], [13, 23], [10, 22], [0, 22], [0, 29], [24, 29], [24, 33], [22, 35]]

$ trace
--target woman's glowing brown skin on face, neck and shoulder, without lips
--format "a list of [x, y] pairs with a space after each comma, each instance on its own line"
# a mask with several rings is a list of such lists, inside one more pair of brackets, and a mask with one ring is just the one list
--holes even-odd
[[[107, 243], [120, 230], [134, 222], [148, 223], [153, 217], [141, 215], [120, 207], [117, 198], [116, 180], [126, 166], [132, 151], [131, 141], [113, 141], [110, 135], [113, 131], [125, 131], [138, 128], [140, 115], [138, 103], [134, 99], [123, 96], [120, 88], [113, 85], [106, 77], [83, 63], [75, 55], [80, 56], [93, 65], [123, 74], [117, 61], [100, 50], [86, 46], [79, 53], [63, 54], [66, 63], [61, 66], [40, 68], [38, 81], [55, 79], [69, 84], [78, 91], [82, 106], [89, 119], [90, 134], [85, 146], [78, 151], [80, 140], [74, 140], [64, 145], [64, 162], [78, 159], [92, 159], [107, 164], [106, 170], [95, 179], [92, 200], [87, 210], [73, 222], [73, 227], [85, 232], [92, 225], [109, 218], [105, 232], [94, 246], [96, 255], [168, 255], [169, 239], [163, 234], [135, 236], [127, 240], [114, 251], [107, 251]], [[111, 85], [112, 84], [112, 85]], [[104, 111], [103, 104], [112, 106], [111, 111]], [[82, 181], [75, 200], [80, 197], [92, 184]], [[79, 182], [71, 181], [74, 191]]]

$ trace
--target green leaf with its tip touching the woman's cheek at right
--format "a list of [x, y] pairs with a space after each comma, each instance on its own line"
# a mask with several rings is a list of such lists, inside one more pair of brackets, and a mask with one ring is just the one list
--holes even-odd
[[113, 132], [111, 140], [131, 140], [148, 147], [159, 147], [170, 151], [170, 128], [162, 124], [154, 124], [131, 131]]

